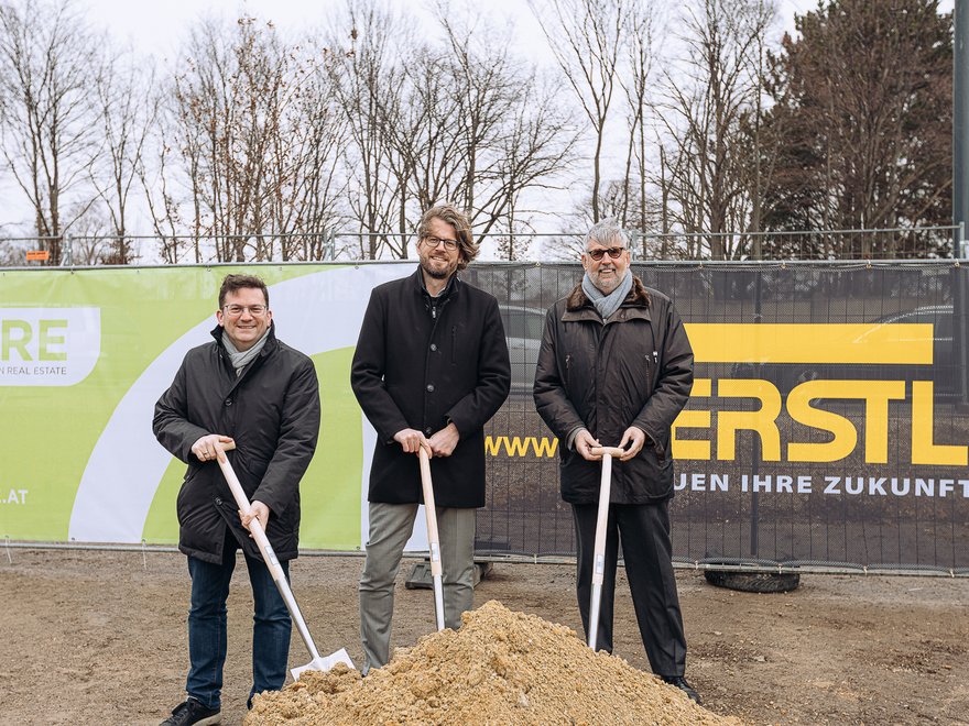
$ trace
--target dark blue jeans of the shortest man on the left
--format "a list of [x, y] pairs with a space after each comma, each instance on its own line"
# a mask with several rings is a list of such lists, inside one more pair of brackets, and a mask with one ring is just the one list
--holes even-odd
[[[236, 568], [238, 543], [226, 534], [221, 564], [188, 558], [192, 604], [188, 609], [188, 679], [185, 691], [209, 708], [221, 708], [222, 667], [226, 663], [226, 600]], [[280, 562], [286, 578], [290, 563]], [[279, 691], [286, 680], [293, 625], [286, 603], [262, 560], [246, 558], [255, 615], [252, 624], [252, 695]]]

